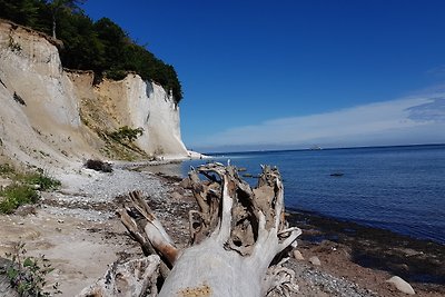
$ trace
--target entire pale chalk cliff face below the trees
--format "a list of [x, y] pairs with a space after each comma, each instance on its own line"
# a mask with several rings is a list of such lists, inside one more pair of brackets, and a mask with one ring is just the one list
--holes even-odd
[[[0, 154], [21, 162], [63, 167], [91, 157], [187, 156], [179, 109], [160, 86], [137, 75], [93, 86], [91, 72], [62, 69], [49, 38], [6, 21], [0, 105]], [[134, 143], [113, 143], [108, 135], [123, 126], [144, 132]]]

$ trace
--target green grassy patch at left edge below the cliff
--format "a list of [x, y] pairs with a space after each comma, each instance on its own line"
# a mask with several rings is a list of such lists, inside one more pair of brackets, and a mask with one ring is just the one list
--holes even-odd
[[21, 205], [39, 201], [39, 190], [48, 191], [61, 186], [60, 181], [49, 177], [42, 169], [34, 172], [17, 172], [8, 164], [0, 165], [0, 176], [8, 177], [12, 184], [0, 189], [0, 214], [12, 214]]

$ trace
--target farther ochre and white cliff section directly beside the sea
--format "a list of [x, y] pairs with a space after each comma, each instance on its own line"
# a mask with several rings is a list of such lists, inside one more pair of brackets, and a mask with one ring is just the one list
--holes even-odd
[[138, 75], [123, 80], [103, 80], [92, 86], [91, 72], [70, 72], [80, 115], [92, 130], [116, 131], [120, 127], [142, 128], [135, 145], [150, 156], [186, 156], [180, 138], [179, 107], [164, 88]]

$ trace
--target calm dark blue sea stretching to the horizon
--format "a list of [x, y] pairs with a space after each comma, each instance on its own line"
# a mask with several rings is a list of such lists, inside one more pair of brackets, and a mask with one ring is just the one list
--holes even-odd
[[255, 186], [260, 165], [276, 166], [288, 209], [445, 244], [445, 145], [209, 155], [150, 170], [185, 177], [190, 166], [230, 160]]

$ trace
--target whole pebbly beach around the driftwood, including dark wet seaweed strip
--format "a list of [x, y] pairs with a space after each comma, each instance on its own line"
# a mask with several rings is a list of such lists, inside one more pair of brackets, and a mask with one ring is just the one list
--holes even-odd
[[[123, 169], [111, 174], [82, 169], [63, 178], [63, 187], [42, 192], [39, 206], [0, 216], [0, 255], [26, 242], [56, 268], [50, 280], [61, 296], [76, 296], [101, 277], [110, 264], [141, 257], [115, 211], [130, 190], [141, 190], [177, 246], [188, 242], [191, 191], [180, 178]], [[304, 259], [287, 264], [295, 270], [295, 296], [406, 296], [386, 283], [395, 274], [409, 281], [417, 296], [444, 296], [444, 246], [397, 237], [314, 214], [290, 211], [288, 220], [304, 232], [297, 249]], [[320, 265], [309, 261], [316, 256]], [[424, 276], [423, 278], [421, 276]]]

